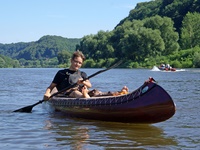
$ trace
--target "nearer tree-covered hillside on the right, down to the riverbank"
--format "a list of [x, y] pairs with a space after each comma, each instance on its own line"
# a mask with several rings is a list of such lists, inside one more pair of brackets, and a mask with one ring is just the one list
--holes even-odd
[[130, 68], [162, 63], [199, 68], [199, 24], [200, 0], [142, 2], [114, 30], [83, 37], [80, 49], [91, 58], [88, 66], [96, 60], [124, 58]]

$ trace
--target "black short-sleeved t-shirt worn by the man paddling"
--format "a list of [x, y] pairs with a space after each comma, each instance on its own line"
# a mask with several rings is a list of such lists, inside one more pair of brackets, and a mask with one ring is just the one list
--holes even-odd
[[81, 76], [83, 79], [86, 79], [87, 78], [87, 74], [83, 71], [72, 71], [72, 70], [69, 70], [69, 69], [63, 69], [63, 70], [59, 70], [54, 79], [53, 79], [53, 83], [56, 84], [56, 88], [58, 91], [70, 86], [70, 82], [69, 82], [69, 76], [71, 74], [77, 74], [79, 76]]

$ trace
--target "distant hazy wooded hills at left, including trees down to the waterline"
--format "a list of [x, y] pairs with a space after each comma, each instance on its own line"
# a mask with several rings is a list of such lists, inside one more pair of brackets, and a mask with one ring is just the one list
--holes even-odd
[[78, 49], [80, 40], [47, 35], [35, 42], [0, 44], [0, 68], [57, 67], [66, 63], [62, 54], [70, 57], [71, 52]]

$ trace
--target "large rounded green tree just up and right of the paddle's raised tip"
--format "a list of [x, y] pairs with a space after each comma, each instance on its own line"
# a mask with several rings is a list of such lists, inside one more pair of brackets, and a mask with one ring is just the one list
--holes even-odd
[[122, 54], [133, 61], [144, 61], [146, 57], [160, 55], [164, 50], [160, 31], [145, 27], [127, 32], [120, 46]]

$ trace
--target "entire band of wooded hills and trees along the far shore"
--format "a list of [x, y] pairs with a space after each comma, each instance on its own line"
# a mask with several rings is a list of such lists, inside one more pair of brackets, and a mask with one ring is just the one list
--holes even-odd
[[[84, 68], [200, 68], [200, 1], [138, 3], [112, 31], [80, 39], [46, 35], [35, 42], [0, 43], [0, 68], [65, 68], [81, 50]], [[147, 11], [148, 10], [148, 11]]]

